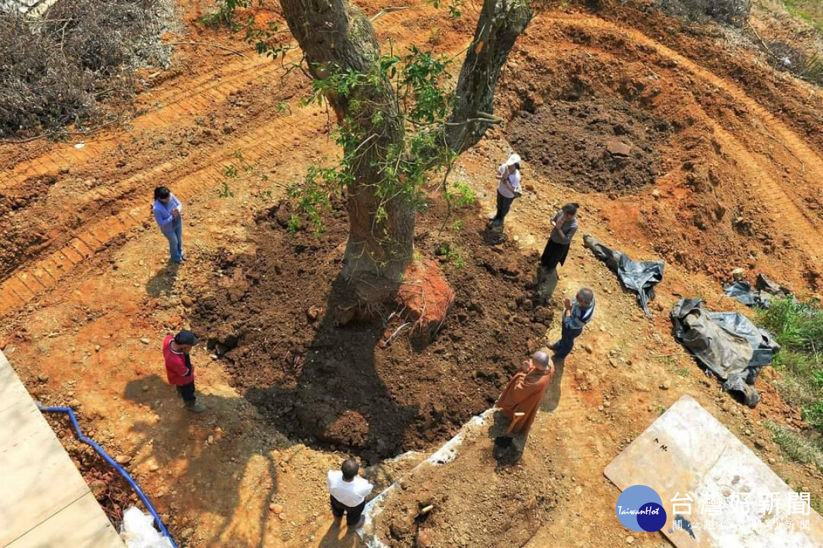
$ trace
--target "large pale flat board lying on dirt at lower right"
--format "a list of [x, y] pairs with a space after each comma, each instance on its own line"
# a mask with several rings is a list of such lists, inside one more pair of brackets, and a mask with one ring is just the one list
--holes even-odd
[[[646, 485], [657, 492], [667, 513], [662, 532], [677, 548], [823, 546], [820, 514], [808, 504], [804, 513], [790, 512], [785, 503], [798, 494], [690, 396], [669, 407], [603, 473], [621, 490]], [[689, 502], [675, 503], [686, 495]], [[763, 499], [779, 505], [764, 512]], [[689, 527], [674, 527], [684, 520]]]

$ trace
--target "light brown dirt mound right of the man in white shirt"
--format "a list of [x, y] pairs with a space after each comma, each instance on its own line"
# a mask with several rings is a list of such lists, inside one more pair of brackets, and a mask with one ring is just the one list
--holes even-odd
[[[376, 527], [388, 546], [523, 546], [546, 522], [566, 482], [545, 454], [527, 452], [500, 467], [492, 442], [463, 442], [458, 460], [423, 464], [388, 495]], [[434, 508], [418, 524], [421, 509]]]

